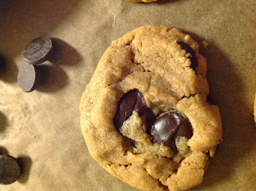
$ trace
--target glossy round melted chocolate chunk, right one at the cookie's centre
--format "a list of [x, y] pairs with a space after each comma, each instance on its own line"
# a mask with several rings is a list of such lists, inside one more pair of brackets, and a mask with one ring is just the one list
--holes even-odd
[[151, 129], [151, 135], [154, 143], [163, 143], [176, 150], [176, 137], [191, 138], [193, 128], [188, 119], [180, 114], [170, 112], [156, 119]]

